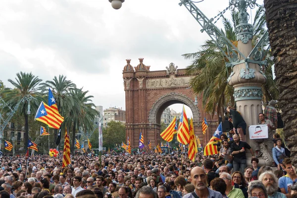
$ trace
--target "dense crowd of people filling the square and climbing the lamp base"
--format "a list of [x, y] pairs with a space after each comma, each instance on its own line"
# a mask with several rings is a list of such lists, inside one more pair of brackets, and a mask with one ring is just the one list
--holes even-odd
[[[249, 146], [247, 124], [228, 107], [231, 135], [220, 136], [218, 154], [198, 152], [195, 161], [185, 150], [77, 154], [66, 167], [59, 156], [1, 156], [0, 198], [297, 198], [296, 169], [279, 134], [272, 135], [276, 111], [270, 103], [258, 115], [259, 124], [268, 126], [268, 139], [251, 140]], [[275, 167], [258, 166], [263, 154], [259, 144], [271, 149]]]

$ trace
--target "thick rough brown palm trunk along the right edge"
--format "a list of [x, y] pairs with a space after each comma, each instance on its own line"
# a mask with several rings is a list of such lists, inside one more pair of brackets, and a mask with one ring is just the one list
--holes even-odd
[[272, 54], [275, 58], [275, 76], [279, 86], [279, 103], [285, 123], [287, 147], [292, 164], [297, 163], [297, 1], [264, 0], [266, 21]]

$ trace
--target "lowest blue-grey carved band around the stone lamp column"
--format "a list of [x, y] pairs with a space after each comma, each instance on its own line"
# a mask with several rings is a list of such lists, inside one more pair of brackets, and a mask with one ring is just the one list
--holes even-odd
[[241, 87], [234, 89], [233, 97], [235, 101], [245, 99], [262, 99], [262, 90], [260, 87]]

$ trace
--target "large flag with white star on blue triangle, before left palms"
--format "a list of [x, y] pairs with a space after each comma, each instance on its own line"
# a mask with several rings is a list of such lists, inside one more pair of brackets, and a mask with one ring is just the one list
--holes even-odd
[[45, 102], [41, 102], [36, 112], [35, 120], [47, 124], [50, 128], [59, 129], [64, 118], [57, 116], [49, 105]]

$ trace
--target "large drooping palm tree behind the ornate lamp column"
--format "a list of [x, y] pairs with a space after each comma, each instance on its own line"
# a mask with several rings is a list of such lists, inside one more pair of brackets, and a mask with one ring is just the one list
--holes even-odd
[[[238, 13], [232, 12], [232, 22], [223, 17], [224, 30], [221, 32], [237, 46], [235, 24], [238, 24]], [[264, 33], [265, 18], [263, 9], [256, 11], [253, 27], [252, 43], [255, 45]], [[225, 49], [227, 53], [227, 49]], [[201, 46], [201, 50], [195, 53], [183, 54], [186, 59], [192, 59], [192, 63], [187, 67], [187, 73], [196, 75], [190, 82], [194, 92], [202, 95], [202, 105], [204, 110], [212, 115], [216, 112], [223, 116], [224, 106], [235, 104], [234, 89], [228, 85], [228, 76], [232, 68], [226, 67], [226, 58], [212, 40], [208, 40]], [[272, 80], [271, 60], [268, 59], [268, 66], [262, 68], [267, 75], [267, 83], [263, 85], [264, 100], [276, 99], [278, 90]], [[265, 102], [265, 101], [264, 101]]]

